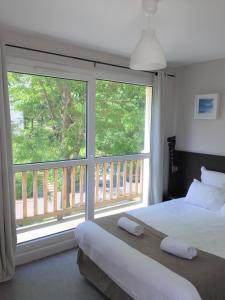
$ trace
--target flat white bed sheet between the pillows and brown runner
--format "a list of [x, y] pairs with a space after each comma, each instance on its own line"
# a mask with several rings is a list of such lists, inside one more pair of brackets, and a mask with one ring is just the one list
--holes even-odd
[[225, 259], [225, 217], [185, 203], [184, 199], [140, 208], [129, 214], [173, 238]]

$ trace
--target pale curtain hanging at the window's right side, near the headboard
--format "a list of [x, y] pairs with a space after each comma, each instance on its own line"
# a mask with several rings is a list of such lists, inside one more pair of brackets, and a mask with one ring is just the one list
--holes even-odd
[[151, 123], [150, 204], [162, 202], [168, 185], [167, 137], [175, 134], [174, 78], [165, 72], [154, 76]]

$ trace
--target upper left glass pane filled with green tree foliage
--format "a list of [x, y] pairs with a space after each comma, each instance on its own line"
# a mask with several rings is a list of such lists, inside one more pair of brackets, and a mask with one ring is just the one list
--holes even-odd
[[8, 73], [14, 164], [86, 157], [87, 82]]

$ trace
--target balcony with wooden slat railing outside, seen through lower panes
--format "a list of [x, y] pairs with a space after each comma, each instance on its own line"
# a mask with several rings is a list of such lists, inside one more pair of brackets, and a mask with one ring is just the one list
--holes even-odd
[[[85, 219], [86, 162], [14, 167], [18, 243], [76, 227]], [[95, 217], [142, 205], [144, 159], [95, 164]]]

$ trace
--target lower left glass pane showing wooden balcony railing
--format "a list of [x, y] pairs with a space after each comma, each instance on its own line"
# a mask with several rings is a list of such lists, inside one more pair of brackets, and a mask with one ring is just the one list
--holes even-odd
[[85, 218], [86, 167], [14, 175], [17, 242], [76, 227]]

